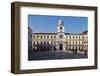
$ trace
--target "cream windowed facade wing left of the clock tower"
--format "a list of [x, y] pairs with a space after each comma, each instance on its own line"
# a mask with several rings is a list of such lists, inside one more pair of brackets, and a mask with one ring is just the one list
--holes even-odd
[[33, 50], [54, 50], [56, 47], [55, 34], [33, 34], [32, 37]]

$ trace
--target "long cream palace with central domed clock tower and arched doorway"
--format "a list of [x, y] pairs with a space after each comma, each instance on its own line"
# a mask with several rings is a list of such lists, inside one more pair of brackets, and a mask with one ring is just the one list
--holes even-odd
[[[79, 34], [66, 33], [64, 23], [58, 20], [55, 33], [32, 33], [33, 51], [87, 51], [87, 31]], [[33, 30], [34, 31], [34, 30]]]

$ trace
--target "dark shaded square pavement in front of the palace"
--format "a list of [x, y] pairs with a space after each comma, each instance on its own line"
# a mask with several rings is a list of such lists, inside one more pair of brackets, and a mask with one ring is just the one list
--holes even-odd
[[84, 54], [66, 51], [39, 51], [39, 52], [29, 52], [28, 60], [52, 60], [52, 59], [79, 59], [87, 58]]

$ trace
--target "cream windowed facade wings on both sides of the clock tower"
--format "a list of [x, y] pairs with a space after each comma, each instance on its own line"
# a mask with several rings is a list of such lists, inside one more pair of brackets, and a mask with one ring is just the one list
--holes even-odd
[[[88, 38], [87, 34], [77, 35], [65, 35], [64, 37], [65, 49], [68, 50], [87, 50]], [[57, 34], [36, 34], [32, 36], [32, 48], [33, 50], [59, 50], [57, 49]]]

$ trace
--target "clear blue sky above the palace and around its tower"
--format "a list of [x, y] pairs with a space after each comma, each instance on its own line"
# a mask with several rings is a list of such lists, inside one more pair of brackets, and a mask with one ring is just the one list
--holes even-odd
[[88, 29], [88, 17], [29, 15], [28, 25], [33, 32], [56, 32], [58, 20], [63, 20], [66, 33], [80, 33]]

